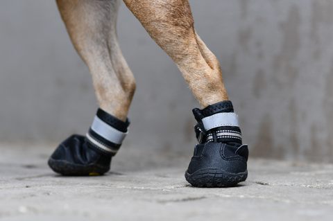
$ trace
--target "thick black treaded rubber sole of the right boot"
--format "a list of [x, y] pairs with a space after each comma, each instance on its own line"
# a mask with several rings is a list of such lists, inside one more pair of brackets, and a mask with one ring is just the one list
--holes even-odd
[[219, 168], [205, 168], [189, 174], [185, 178], [192, 186], [197, 187], [228, 187], [244, 182], [248, 178], [248, 170], [244, 173], [227, 173]]

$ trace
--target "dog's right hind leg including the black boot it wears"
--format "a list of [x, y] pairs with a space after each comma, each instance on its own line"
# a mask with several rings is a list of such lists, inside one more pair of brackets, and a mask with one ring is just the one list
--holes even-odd
[[173, 59], [203, 109], [194, 109], [199, 144], [185, 177], [194, 186], [232, 186], [247, 177], [247, 145], [223, 85], [220, 64], [194, 29], [187, 0], [123, 0]]

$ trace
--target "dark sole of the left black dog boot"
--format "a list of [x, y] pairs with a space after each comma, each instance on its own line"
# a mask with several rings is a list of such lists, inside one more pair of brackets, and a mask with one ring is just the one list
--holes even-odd
[[103, 175], [110, 170], [110, 166], [99, 166], [95, 163], [81, 165], [69, 161], [52, 159], [51, 157], [48, 163], [54, 172], [67, 176]]

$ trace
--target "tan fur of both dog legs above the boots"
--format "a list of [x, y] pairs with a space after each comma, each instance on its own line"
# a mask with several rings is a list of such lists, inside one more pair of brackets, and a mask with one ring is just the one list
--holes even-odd
[[[228, 100], [221, 67], [194, 29], [187, 0], [123, 0], [172, 58], [201, 107]], [[71, 41], [90, 70], [101, 109], [126, 120], [135, 79], [117, 42], [120, 0], [57, 0]]]

